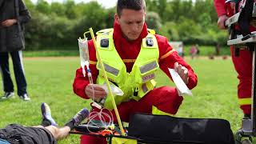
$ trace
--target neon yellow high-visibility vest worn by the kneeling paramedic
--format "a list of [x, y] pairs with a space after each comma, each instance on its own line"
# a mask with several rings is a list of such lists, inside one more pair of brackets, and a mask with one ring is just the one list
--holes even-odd
[[[110, 83], [117, 85], [124, 92], [123, 96], [114, 96], [117, 105], [130, 101], [130, 99], [138, 101], [154, 89], [155, 71], [159, 68], [159, 50], [158, 42], [153, 34], [148, 34], [142, 39], [141, 50], [130, 73], [126, 72], [126, 65], [114, 47], [113, 29], [100, 30], [97, 34], [98, 51], [101, 54], [106, 75]], [[105, 45], [106, 43], [108, 46]], [[101, 66], [99, 63], [96, 66], [99, 71], [97, 83], [103, 84], [105, 79]], [[109, 97], [106, 98], [104, 107], [113, 109]]]

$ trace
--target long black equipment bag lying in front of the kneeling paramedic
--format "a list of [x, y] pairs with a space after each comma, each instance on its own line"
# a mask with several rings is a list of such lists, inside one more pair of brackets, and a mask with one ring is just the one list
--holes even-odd
[[214, 118], [175, 118], [167, 115], [134, 114], [128, 136], [146, 143], [234, 144], [230, 123]]

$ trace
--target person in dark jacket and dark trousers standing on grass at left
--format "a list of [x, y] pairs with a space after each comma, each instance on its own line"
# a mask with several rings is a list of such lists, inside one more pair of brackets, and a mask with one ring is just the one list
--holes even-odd
[[22, 50], [25, 48], [24, 23], [30, 21], [30, 12], [22, 0], [0, 0], [0, 70], [2, 74], [2, 99], [14, 95], [14, 84], [10, 78], [9, 54], [14, 65], [18, 96], [30, 101], [26, 91], [26, 78], [22, 64]]

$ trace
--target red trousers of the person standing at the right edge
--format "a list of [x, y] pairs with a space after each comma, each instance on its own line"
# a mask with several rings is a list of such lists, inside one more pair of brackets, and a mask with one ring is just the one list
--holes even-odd
[[[232, 60], [234, 69], [238, 73], [238, 98], [251, 97], [251, 78], [252, 78], [252, 52], [250, 50], [240, 50], [238, 57], [234, 56], [234, 49], [231, 46]], [[244, 114], [250, 114], [250, 105], [241, 105]]]

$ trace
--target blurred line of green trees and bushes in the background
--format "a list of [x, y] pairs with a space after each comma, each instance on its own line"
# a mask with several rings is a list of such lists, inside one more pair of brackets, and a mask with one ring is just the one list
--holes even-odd
[[[116, 7], [106, 9], [95, 1], [24, 1], [32, 15], [26, 24], [27, 50], [74, 49], [88, 28], [96, 32], [113, 27]], [[170, 41], [226, 45], [226, 30], [218, 30], [212, 0], [146, 0], [146, 8], [148, 27]]]

